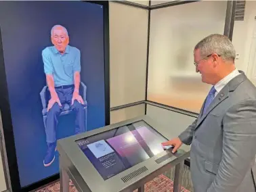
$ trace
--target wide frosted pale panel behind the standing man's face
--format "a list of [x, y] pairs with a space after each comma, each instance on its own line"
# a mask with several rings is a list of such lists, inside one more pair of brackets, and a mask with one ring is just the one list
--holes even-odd
[[193, 50], [207, 35], [223, 34], [226, 5], [199, 1], [151, 11], [148, 100], [200, 112], [210, 87], [196, 74]]

